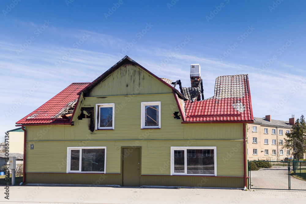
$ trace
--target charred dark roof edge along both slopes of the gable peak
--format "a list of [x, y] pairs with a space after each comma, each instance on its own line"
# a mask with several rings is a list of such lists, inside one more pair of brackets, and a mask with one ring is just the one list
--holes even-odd
[[[121, 65], [123, 65], [126, 61], [130, 61], [132, 62], [134, 65], [140, 67], [141, 69], [143, 69], [145, 72], [147, 72], [148, 74], [152, 75], [153, 77], [155, 77], [157, 80], [159, 80], [160, 82], [162, 82], [163, 84], [165, 84], [166, 86], [170, 87], [173, 91], [175, 91], [177, 94], [181, 95], [181, 93], [179, 91], [177, 91], [174, 87], [172, 87], [170, 84], [168, 84], [167, 82], [165, 82], [164, 80], [160, 79], [159, 77], [157, 77], [155, 74], [153, 74], [152, 72], [150, 72], [149, 70], [147, 70], [146, 68], [144, 68], [143, 66], [141, 66], [140, 64], [138, 64], [136, 61], [132, 60], [130, 57], [128, 57], [127, 55], [125, 55], [125, 57], [123, 57], [120, 61], [118, 61], [116, 64], [114, 64], [110, 69], [108, 69], [106, 72], [104, 72], [101, 76], [99, 76], [97, 79], [93, 80], [93, 82], [91, 82], [90, 84], [88, 84], [88, 86], [86, 86], [84, 89], [82, 89], [80, 92], [77, 93], [77, 95], [80, 95], [80, 93], [84, 92], [87, 93], [89, 90], [91, 90], [91, 88], [93, 88], [96, 84], [100, 83], [103, 79], [106, 78], [106, 76], [110, 75], [112, 72], [114, 72], [116, 69], [118, 69], [119, 67], [121, 67]], [[185, 98], [183, 95], [181, 95], [182, 98]]]

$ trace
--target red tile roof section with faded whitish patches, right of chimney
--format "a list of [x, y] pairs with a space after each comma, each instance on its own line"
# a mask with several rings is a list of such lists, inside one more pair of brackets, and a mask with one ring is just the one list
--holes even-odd
[[185, 101], [186, 122], [253, 122], [248, 75], [219, 76], [215, 95]]

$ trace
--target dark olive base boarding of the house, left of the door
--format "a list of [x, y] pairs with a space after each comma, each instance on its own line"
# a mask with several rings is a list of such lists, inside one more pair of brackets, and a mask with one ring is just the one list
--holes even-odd
[[26, 173], [28, 184], [122, 185], [120, 174]]

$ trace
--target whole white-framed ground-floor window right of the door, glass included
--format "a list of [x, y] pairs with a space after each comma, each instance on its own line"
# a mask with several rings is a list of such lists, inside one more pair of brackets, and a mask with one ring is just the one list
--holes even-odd
[[217, 147], [171, 147], [171, 175], [217, 176]]

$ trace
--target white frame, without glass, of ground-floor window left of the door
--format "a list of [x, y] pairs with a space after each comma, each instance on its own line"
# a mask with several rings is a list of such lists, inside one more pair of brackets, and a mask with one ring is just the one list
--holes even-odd
[[[102, 171], [82, 171], [82, 149], [104, 149], [104, 172]], [[71, 171], [71, 150], [80, 150], [80, 162], [79, 162], [79, 170], [78, 171]], [[67, 168], [66, 173], [106, 173], [106, 147], [67, 147]]]

